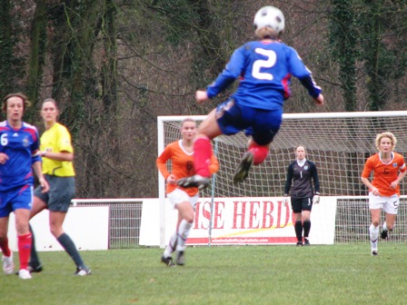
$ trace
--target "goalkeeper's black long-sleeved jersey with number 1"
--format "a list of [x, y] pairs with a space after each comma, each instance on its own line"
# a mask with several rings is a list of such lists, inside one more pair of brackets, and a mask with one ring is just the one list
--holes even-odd
[[315, 192], [319, 193], [320, 182], [315, 163], [306, 160], [303, 166], [300, 166], [297, 161], [291, 162], [288, 165], [284, 194], [290, 192], [292, 184], [291, 197], [293, 198], [312, 198], [314, 194], [313, 185]]

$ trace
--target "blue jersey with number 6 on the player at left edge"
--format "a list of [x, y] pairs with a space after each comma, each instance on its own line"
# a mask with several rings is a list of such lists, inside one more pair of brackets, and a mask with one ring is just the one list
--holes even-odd
[[23, 123], [22, 128], [14, 129], [7, 121], [0, 123], [0, 153], [8, 156], [0, 164], [0, 191], [34, 184], [32, 165], [41, 161], [34, 156], [39, 144], [35, 126]]

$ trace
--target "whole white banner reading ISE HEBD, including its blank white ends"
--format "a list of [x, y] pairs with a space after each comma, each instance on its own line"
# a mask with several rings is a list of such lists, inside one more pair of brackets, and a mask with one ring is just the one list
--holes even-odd
[[[210, 229], [213, 204], [212, 229]], [[165, 200], [165, 240], [175, 230], [177, 212]], [[310, 242], [333, 244], [336, 198], [321, 197], [311, 213]], [[141, 245], [160, 245], [159, 201], [144, 202]], [[210, 236], [211, 231], [211, 238]], [[296, 243], [291, 206], [282, 197], [202, 198], [196, 205], [193, 230], [187, 244], [293, 244]]]

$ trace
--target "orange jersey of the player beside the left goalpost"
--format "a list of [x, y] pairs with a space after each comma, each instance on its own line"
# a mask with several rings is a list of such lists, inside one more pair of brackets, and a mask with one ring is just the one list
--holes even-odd
[[[174, 174], [175, 178], [181, 179], [185, 177], [194, 176], [194, 153], [187, 153], [184, 150], [182, 140], [175, 141], [168, 144], [164, 152], [156, 160], [158, 170], [163, 174], [165, 181], [170, 174]], [[167, 170], [166, 162], [171, 160], [172, 162], [172, 172]], [[212, 153], [211, 163], [209, 165], [209, 171], [211, 173], [217, 172], [219, 170], [219, 162]], [[198, 192], [197, 187], [193, 188], [183, 188], [176, 184], [167, 183], [166, 193], [173, 192], [176, 188], [184, 190], [189, 196], [194, 196]]]

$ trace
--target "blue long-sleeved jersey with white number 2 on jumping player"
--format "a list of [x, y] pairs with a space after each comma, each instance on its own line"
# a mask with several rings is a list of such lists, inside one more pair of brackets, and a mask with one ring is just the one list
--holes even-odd
[[276, 41], [253, 41], [233, 52], [223, 73], [206, 92], [211, 98], [241, 77], [232, 95], [236, 103], [256, 109], [283, 109], [284, 100], [290, 97], [292, 75], [314, 98], [321, 93], [321, 88], [313, 82], [311, 71], [292, 47]]

